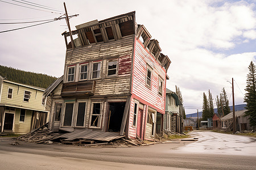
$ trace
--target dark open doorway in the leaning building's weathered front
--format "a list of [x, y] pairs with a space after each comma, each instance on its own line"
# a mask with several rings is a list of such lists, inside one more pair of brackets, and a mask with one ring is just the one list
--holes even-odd
[[109, 103], [108, 127], [106, 131], [119, 132], [122, 125], [125, 102]]

